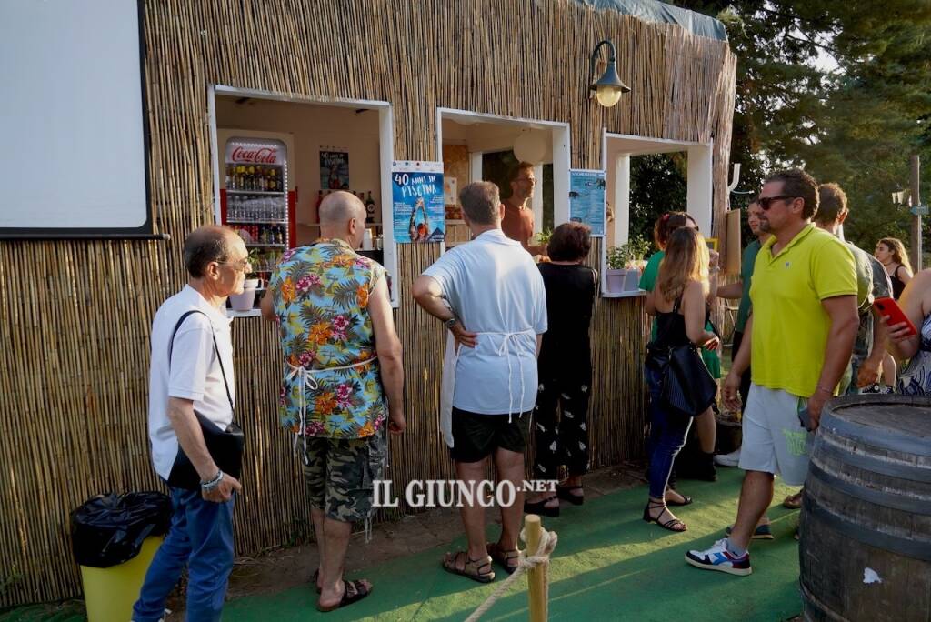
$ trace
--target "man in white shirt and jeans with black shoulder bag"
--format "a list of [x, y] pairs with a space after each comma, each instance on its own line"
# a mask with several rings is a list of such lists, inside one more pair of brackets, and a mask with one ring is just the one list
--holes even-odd
[[155, 313], [149, 371], [152, 462], [169, 484], [174, 514], [145, 575], [133, 622], [163, 619], [185, 566], [187, 619], [219, 620], [233, 570], [233, 502], [241, 487], [217, 466], [220, 458], [210, 453], [205, 435], [233, 421], [236, 382], [224, 309], [229, 294], [242, 292], [249, 253], [231, 229], [217, 225], [192, 232], [183, 253], [189, 279]]

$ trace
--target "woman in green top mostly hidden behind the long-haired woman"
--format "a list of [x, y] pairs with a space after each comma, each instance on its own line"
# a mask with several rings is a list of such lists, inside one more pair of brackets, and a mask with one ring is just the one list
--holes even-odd
[[[695, 223], [695, 219], [692, 216], [684, 211], [668, 211], [659, 218], [656, 219], [656, 223], [653, 228], [653, 237], [656, 247], [659, 249], [659, 252], [655, 252], [651, 257], [650, 261], [647, 262], [646, 267], [643, 268], [643, 274], [641, 275], [640, 289], [645, 291], [654, 291], [656, 284], [656, 277], [659, 274], [659, 265], [663, 261], [663, 258], [666, 256], [666, 245], [668, 243], [669, 237], [676, 231], [681, 228], [695, 229], [698, 230], [698, 224]], [[712, 292], [709, 294], [711, 297], [716, 295], [718, 289], [718, 264], [717, 264], [717, 253], [714, 254], [713, 258], [709, 257], [709, 287]], [[705, 326], [707, 331], [713, 331], [714, 326], [708, 322]], [[656, 319], [653, 321], [653, 329], [650, 331], [650, 339], [654, 340], [656, 338]], [[716, 350], [707, 350], [703, 349], [701, 351], [701, 358], [705, 361], [705, 366], [708, 367], [708, 372], [711, 372], [711, 376], [716, 380], [721, 379], [721, 357], [718, 356]], [[651, 404], [651, 408], [652, 408]], [[698, 441], [700, 444], [701, 452], [697, 454], [695, 461], [689, 461], [691, 468], [688, 469], [688, 474], [695, 480], [710, 480], [714, 481], [718, 479], [717, 469], [714, 466], [714, 443], [717, 437], [718, 427], [717, 422], [714, 419], [714, 412], [708, 412], [707, 415], [703, 414], [700, 417], [695, 419], [695, 432], [698, 436]], [[670, 488], [675, 488], [676, 477], [673, 475]], [[688, 503], [687, 497], [682, 497], [680, 494], [675, 491], [670, 490], [669, 492], [669, 501], [675, 505], [686, 504]]]

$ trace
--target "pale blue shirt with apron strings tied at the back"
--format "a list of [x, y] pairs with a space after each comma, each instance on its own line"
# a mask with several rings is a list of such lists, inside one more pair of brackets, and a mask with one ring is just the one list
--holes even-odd
[[533, 409], [546, 289], [530, 253], [493, 229], [446, 252], [424, 274], [439, 282], [466, 331], [480, 333], [476, 347], [459, 350], [452, 405], [480, 414]]

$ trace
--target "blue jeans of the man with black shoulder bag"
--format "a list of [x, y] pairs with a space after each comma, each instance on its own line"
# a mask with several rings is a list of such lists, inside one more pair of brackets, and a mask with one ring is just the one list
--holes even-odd
[[199, 492], [171, 489], [171, 528], [155, 553], [139, 600], [132, 607], [133, 622], [156, 622], [165, 615], [165, 601], [185, 565], [187, 619], [220, 619], [227, 580], [233, 570], [235, 498], [213, 503], [205, 501]]

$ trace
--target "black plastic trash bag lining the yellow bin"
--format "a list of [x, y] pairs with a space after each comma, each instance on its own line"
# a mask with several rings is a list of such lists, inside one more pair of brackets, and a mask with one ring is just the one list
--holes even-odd
[[71, 513], [74, 560], [109, 568], [139, 555], [142, 540], [166, 534], [171, 499], [162, 493], [98, 494]]

